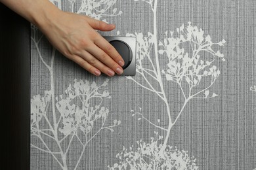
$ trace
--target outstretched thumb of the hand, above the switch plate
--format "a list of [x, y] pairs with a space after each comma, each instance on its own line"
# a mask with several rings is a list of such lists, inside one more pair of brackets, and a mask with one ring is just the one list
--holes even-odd
[[95, 20], [93, 18], [87, 17], [87, 22], [93, 29], [98, 29], [100, 31], [111, 31], [116, 28], [114, 24], [107, 24], [106, 22], [102, 22], [100, 20]]

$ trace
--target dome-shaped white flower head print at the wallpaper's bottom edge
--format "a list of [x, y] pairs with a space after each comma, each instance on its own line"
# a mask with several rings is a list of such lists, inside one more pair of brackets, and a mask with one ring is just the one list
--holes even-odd
[[[157, 132], [155, 133], [158, 135]], [[123, 147], [122, 152], [117, 154], [119, 163], [115, 163], [113, 167], [108, 166], [109, 169], [198, 169], [196, 159], [190, 158], [184, 150], [167, 146], [161, 152], [163, 147], [163, 144], [160, 143], [161, 139], [163, 139], [162, 136], [159, 136], [157, 140], [152, 137], [150, 143], [137, 141], [136, 149], [133, 146], [129, 150]]]

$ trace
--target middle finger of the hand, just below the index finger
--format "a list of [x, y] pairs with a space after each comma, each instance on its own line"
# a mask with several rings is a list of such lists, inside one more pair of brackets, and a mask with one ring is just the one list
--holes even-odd
[[92, 46], [91, 48], [86, 49], [89, 53], [91, 53], [95, 58], [108, 66], [112, 71], [115, 71], [118, 75], [123, 73], [122, 67], [116, 63], [106, 52], [98, 48], [98, 46]]

